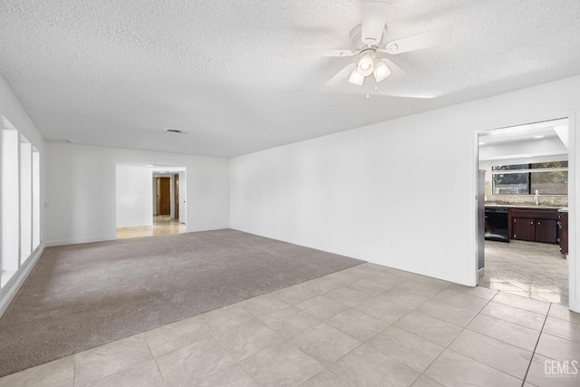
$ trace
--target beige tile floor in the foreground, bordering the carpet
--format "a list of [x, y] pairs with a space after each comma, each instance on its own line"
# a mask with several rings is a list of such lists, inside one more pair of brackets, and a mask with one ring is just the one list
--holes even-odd
[[0, 386], [577, 386], [557, 372], [577, 360], [580, 314], [562, 305], [363, 264]]

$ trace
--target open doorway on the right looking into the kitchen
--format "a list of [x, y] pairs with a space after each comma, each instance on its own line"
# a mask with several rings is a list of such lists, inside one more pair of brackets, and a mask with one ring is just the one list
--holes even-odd
[[568, 305], [568, 130], [561, 118], [478, 132], [485, 171], [478, 285]]

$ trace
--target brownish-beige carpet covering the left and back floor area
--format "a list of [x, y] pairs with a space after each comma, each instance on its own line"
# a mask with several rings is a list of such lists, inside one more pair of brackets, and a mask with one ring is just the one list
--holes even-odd
[[49, 247], [0, 319], [0, 376], [362, 262], [231, 229]]

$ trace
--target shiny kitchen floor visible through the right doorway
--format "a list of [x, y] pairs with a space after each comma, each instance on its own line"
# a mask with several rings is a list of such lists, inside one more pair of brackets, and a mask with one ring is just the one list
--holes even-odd
[[486, 240], [485, 276], [479, 285], [540, 301], [568, 304], [568, 264], [560, 247]]

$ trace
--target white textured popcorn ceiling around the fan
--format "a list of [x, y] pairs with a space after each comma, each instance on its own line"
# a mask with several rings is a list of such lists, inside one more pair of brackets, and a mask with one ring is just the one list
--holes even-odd
[[361, 0], [4, 0], [0, 73], [46, 140], [224, 157], [580, 73], [578, 0], [387, 3], [389, 41], [454, 35], [369, 99], [299, 54], [352, 48]]

